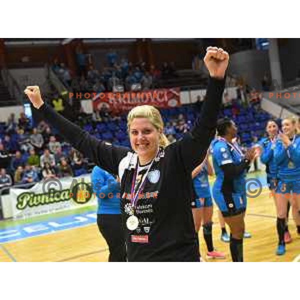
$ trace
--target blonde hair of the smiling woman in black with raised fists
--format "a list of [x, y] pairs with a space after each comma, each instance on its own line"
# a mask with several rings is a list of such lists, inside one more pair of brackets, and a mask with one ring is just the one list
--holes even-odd
[[151, 105], [140, 105], [132, 108], [127, 116], [127, 130], [129, 131], [133, 119], [137, 117], [147, 118], [151, 124], [160, 131], [159, 146], [165, 148], [170, 142], [163, 134], [163, 120], [157, 108]]

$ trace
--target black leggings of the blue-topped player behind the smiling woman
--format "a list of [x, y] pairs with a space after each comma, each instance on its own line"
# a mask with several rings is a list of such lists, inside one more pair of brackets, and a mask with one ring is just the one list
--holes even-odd
[[121, 215], [97, 214], [97, 225], [108, 244], [108, 261], [126, 261], [126, 246]]

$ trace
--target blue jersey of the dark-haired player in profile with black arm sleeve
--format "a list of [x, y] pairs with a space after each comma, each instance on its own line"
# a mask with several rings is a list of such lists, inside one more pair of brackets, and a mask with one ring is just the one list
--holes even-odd
[[[237, 143], [229, 144], [223, 139], [215, 138], [211, 143], [212, 162], [216, 179], [213, 184], [213, 198], [221, 192], [224, 183], [224, 173], [221, 169], [222, 165], [233, 163], [239, 164], [243, 159], [243, 154]], [[243, 171], [239, 176], [232, 179], [232, 194], [241, 196], [244, 193], [245, 174]]]

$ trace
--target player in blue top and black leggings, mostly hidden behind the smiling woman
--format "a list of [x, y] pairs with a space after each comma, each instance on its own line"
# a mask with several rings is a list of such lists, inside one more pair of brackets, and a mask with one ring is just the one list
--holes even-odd
[[91, 172], [93, 192], [98, 201], [97, 225], [109, 248], [108, 261], [126, 261], [125, 232], [120, 212], [119, 180], [98, 166]]

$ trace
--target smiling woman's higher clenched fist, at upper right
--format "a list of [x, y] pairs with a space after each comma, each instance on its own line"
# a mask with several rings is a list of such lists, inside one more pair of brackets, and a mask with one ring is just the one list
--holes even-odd
[[210, 77], [222, 79], [229, 62], [229, 54], [222, 48], [207, 47], [204, 63]]

